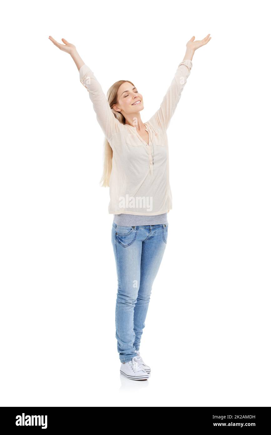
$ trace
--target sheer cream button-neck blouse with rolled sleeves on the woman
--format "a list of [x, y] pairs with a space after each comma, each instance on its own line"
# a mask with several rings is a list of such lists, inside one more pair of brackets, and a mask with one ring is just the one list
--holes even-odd
[[89, 92], [96, 118], [113, 150], [109, 214], [150, 216], [172, 209], [166, 131], [191, 68], [191, 60], [178, 65], [159, 109], [144, 123], [149, 145], [136, 127], [116, 119], [93, 71], [86, 64], [79, 69], [80, 81]]

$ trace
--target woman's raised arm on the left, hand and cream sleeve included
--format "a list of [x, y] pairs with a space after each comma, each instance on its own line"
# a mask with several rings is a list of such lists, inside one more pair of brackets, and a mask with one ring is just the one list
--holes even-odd
[[106, 95], [104, 94], [101, 85], [93, 74], [93, 71], [84, 63], [82, 58], [77, 53], [76, 47], [68, 43], [62, 38], [64, 44], [58, 43], [51, 36], [49, 39], [62, 51], [70, 54], [73, 58], [77, 69], [79, 70], [79, 79], [89, 92], [89, 98], [93, 103], [93, 109], [96, 112], [96, 118], [102, 128], [104, 135], [108, 141], [112, 136], [119, 131], [119, 121], [114, 116]]

